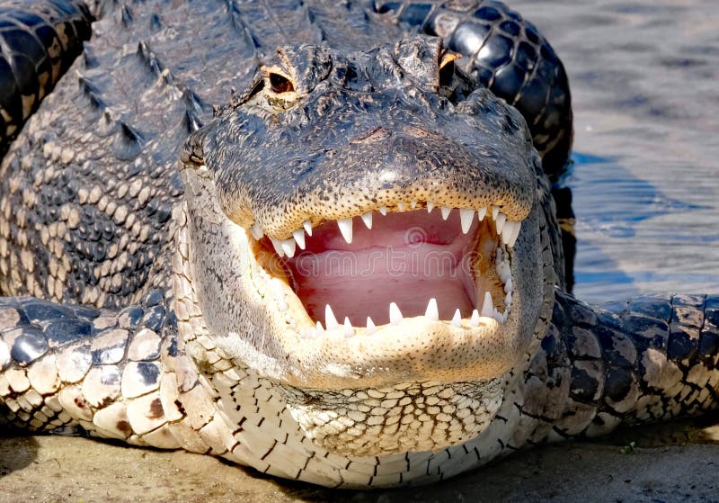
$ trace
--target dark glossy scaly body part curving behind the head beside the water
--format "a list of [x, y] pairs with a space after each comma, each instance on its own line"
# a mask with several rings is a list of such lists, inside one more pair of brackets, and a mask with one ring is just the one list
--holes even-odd
[[376, 6], [462, 54], [457, 64], [527, 119], [546, 174], [561, 174], [572, 148], [572, 96], [562, 62], [531, 22], [499, 2]]

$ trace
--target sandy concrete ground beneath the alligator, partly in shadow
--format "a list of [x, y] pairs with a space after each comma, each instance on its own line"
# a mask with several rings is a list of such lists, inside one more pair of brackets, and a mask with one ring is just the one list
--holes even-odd
[[[717, 501], [719, 446], [693, 443], [714, 442], [716, 430], [686, 424], [629, 430], [601, 443], [522, 451], [428, 487], [375, 491], [278, 481], [179, 451], [75, 437], [0, 437], [0, 502]], [[664, 445], [651, 446], [657, 443]]]

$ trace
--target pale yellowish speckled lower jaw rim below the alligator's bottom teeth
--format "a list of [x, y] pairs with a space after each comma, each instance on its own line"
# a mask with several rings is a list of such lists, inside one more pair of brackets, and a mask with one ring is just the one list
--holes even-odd
[[320, 332], [297, 294], [258, 262], [257, 242], [243, 234], [254, 287], [265, 292], [267, 312], [276, 320], [272, 326], [280, 327], [271, 337], [294, 361], [293, 370], [281, 378], [289, 385], [339, 390], [397, 382], [489, 381], [515, 364], [519, 295], [502, 324], [482, 318], [473, 327], [462, 319], [456, 327], [448, 320], [416, 316], [377, 326], [371, 335], [362, 331], [348, 337], [342, 325]]

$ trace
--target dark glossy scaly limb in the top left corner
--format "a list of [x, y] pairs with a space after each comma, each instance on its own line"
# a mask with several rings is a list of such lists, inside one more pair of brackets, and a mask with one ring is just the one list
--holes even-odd
[[90, 39], [84, 2], [0, 4], [0, 158]]

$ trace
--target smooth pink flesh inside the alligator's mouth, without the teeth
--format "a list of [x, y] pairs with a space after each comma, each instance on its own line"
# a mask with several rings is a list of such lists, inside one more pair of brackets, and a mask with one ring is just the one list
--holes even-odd
[[342, 323], [363, 327], [370, 317], [377, 325], [389, 322], [395, 302], [405, 318], [423, 315], [437, 299], [439, 318], [463, 318], [475, 309], [471, 254], [479, 227], [475, 221], [462, 233], [454, 211], [447, 221], [439, 211], [373, 215], [369, 230], [353, 220], [348, 244], [336, 222], [313, 229], [306, 251], [286, 260], [294, 289], [312, 319], [324, 322], [326, 305]]

